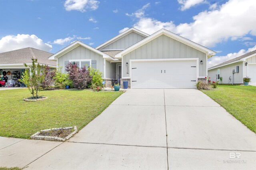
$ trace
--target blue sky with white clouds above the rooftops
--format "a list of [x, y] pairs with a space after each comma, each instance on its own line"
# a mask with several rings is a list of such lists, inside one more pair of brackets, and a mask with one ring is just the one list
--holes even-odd
[[[250, 16], [250, 17], [248, 17]], [[0, 52], [97, 47], [128, 27], [168, 29], [214, 51], [210, 66], [256, 49], [254, 0], [1, 0]]]

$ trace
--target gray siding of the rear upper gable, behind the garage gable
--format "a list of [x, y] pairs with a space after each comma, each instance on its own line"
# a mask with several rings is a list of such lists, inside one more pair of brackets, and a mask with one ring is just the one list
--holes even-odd
[[113, 43], [107, 45], [106, 47], [104, 47], [100, 50], [126, 49], [126, 48], [138, 43], [139, 41], [141, 41], [144, 38], [146, 38], [146, 37], [144, 37], [138, 33], [131, 32], [128, 35], [125, 35], [124, 37], [114, 41]]

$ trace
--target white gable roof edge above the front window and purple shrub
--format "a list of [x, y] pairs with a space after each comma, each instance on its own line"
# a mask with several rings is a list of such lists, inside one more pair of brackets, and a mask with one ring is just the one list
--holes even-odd
[[106, 59], [109, 59], [110, 61], [113, 61], [113, 60], [118, 60], [118, 59], [114, 59], [113, 57], [107, 55], [106, 53], [103, 53], [97, 49], [94, 49], [93, 47], [89, 46], [89, 45], [86, 45], [85, 43], [81, 42], [81, 41], [75, 41], [74, 43], [68, 45], [67, 47], [65, 47], [64, 49], [58, 51], [57, 53], [55, 53], [54, 55], [50, 56], [49, 57], [49, 60], [57, 60], [58, 57], [61, 57], [62, 55], [68, 53], [69, 51], [71, 51], [72, 49], [75, 49], [76, 47], [78, 47], [79, 45], [87, 48], [87, 49], [90, 49], [91, 51], [94, 51], [95, 53], [99, 54], [99, 55], [102, 55], [103, 58], [106, 58]]

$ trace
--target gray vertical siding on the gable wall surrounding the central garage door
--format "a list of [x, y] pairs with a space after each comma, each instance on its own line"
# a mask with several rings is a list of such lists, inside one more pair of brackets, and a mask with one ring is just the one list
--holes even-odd
[[125, 69], [127, 67], [124, 65], [126, 62], [130, 63], [130, 59], [179, 58], [198, 58], [199, 62], [202, 60], [203, 64], [199, 64], [199, 76], [206, 76], [206, 53], [198, 51], [166, 35], [161, 35], [123, 56], [123, 77], [130, 77], [130, 75], [126, 73]]

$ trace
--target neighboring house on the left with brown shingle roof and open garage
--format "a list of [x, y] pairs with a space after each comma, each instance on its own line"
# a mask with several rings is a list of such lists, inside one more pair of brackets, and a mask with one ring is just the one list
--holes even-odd
[[32, 58], [38, 59], [39, 64], [56, 68], [56, 61], [48, 60], [51, 55], [53, 54], [31, 47], [0, 53], [0, 71], [11, 72], [10, 75], [7, 75], [8, 80], [12, 80], [14, 76], [21, 78], [22, 72], [26, 69], [24, 63], [28, 66], [32, 65]]

